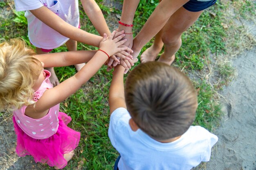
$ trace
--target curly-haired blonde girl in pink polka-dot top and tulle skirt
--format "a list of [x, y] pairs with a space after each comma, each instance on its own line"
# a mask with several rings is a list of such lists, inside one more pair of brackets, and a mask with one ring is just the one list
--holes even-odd
[[[16, 152], [36, 162], [63, 168], [74, 155], [80, 133], [66, 125], [71, 118], [59, 112], [59, 104], [87, 82], [126, 40], [124, 31], [103, 35], [99, 51], [70, 51], [35, 55], [21, 40], [0, 44], [0, 110], [13, 111], [17, 135]], [[114, 35], [117, 38], [113, 39]], [[121, 34], [121, 35], [120, 35]], [[118, 36], [119, 35], [119, 36]], [[119, 41], [119, 42], [118, 42]], [[74, 76], [53, 88], [51, 73], [43, 67], [88, 62]]]

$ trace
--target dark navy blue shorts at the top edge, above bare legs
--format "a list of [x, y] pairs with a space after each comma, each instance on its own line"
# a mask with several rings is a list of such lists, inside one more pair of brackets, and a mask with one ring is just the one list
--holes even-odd
[[198, 0], [190, 0], [183, 7], [191, 12], [198, 12], [204, 9], [211, 7], [213, 4], [216, 3], [217, 0], [210, 0], [210, 1], [198, 1]]

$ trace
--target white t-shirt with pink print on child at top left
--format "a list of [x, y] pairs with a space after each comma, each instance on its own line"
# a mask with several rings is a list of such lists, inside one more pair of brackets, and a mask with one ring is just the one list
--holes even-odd
[[[42, 49], [55, 49], [63, 45], [69, 38], [61, 35], [37, 19], [29, 10], [46, 6], [65, 22], [79, 26], [78, 0], [14, 0], [17, 11], [26, 11], [28, 35], [31, 44]], [[49, 18], [51, 20], [51, 18]]]

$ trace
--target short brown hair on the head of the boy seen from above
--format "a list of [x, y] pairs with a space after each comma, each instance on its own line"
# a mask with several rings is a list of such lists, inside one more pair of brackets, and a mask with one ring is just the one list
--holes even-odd
[[161, 62], [135, 67], [126, 79], [125, 98], [137, 126], [157, 140], [184, 134], [195, 119], [197, 95], [190, 79]]

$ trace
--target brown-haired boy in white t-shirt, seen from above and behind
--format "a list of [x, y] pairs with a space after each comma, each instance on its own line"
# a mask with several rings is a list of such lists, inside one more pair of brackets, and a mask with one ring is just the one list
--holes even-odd
[[[188, 77], [161, 62], [113, 72], [108, 136], [121, 158], [115, 170], [190, 170], [209, 161], [218, 137], [195, 119], [197, 97]], [[126, 109], [127, 108], [127, 109]]]

